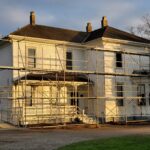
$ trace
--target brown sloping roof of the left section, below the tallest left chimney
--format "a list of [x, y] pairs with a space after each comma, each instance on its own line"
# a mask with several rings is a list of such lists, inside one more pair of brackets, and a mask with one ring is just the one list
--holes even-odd
[[81, 43], [86, 37], [86, 32], [74, 31], [56, 27], [48, 27], [43, 25], [27, 25], [11, 35], [28, 36], [35, 38], [51, 39]]

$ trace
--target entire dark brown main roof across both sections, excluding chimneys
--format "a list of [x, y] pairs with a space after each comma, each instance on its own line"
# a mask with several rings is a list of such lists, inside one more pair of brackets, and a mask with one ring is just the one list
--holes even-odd
[[10, 35], [27, 36], [51, 40], [68, 41], [75, 43], [88, 42], [97, 38], [106, 37], [119, 40], [128, 40], [133, 42], [150, 43], [150, 40], [138, 37], [131, 33], [106, 26], [90, 33], [68, 30], [43, 25], [26, 25], [25, 27], [10, 33]]

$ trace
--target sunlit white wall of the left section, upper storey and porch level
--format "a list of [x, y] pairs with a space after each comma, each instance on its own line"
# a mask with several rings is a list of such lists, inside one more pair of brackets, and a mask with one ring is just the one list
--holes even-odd
[[[55, 44], [48, 44], [48, 43], [40, 43], [40, 42], [29, 42], [29, 41], [20, 41], [19, 43], [17, 41], [13, 42], [13, 57], [14, 57], [14, 61], [13, 61], [13, 65], [16, 67], [24, 67], [27, 66], [27, 59], [25, 59], [28, 54], [28, 48], [35, 48], [36, 49], [36, 68], [35, 69], [39, 69], [39, 70], [44, 70], [44, 69], [48, 69], [49, 71], [61, 71], [63, 69], [66, 68], [66, 51], [72, 52], [72, 56], [73, 56], [73, 70], [74, 71], [85, 71], [88, 69], [93, 70], [93, 67], [91, 67], [91, 60], [95, 60], [93, 59], [93, 57], [97, 56], [101, 56], [101, 55], [97, 55], [97, 53], [94, 54], [94, 56], [89, 56], [90, 53], [87, 52], [86, 49], [82, 49], [82, 48], [78, 48], [78, 47], [73, 47], [73, 46], [66, 46], [66, 45], [55, 45]], [[18, 59], [19, 58], [19, 59]], [[100, 63], [98, 64], [100, 66]], [[90, 66], [90, 67], [89, 67]], [[28, 67], [28, 66], [27, 66]], [[31, 68], [33, 69], [33, 68]], [[100, 69], [100, 68], [98, 68]], [[89, 70], [89, 71], [91, 71]], [[14, 79], [18, 79], [19, 77], [24, 76], [25, 74], [28, 74], [29, 72], [24, 72], [24, 71], [14, 71], [13, 72], [13, 77]], [[32, 71], [32, 73], [40, 73], [37, 71]], [[29, 81], [29, 84], [31, 82], [34, 81]], [[35, 81], [35, 83], [39, 83], [38, 81]], [[60, 82], [60, 81], [59, 81]], [[28, 83], [28, 81], [27, 81]], [[25, 84], [25, 83], [24, 83]], [[44, 82], [43, 82], [44, 84]], [[16, 87], [16, 95], [14, 95], [15, 97], [19, 96], [20, 100], [17, 100], [16, 102], [14, 102], [14, 107], [21, 107], [22, 112], [26, 112], [26, 114], [28, 114], [28, 119], [29, 121], [27, 121], [27, 118], [24, 118], [25, 114], [22, 116], [26, 121], [26, 123], [31, 122], [31, 120], [35, 119], [37, 120], [39, 116], [42, 116], [44, 118], [44, 115], [46, 117], [46, 115], [49, 115], [49, 117], [52, 117], [52, 114], [54, 112], [56, 112], [56, 110], [54, 110], [54, 108], [52, 109], [52, 112], [50, 112], [50, 107], [54, 107], [54, 106], [58, 106], [56, 105], [56, 103], [59, 103], [59, 105], [62, 107], [64, 106], [64, 102], [66, 103], [66, 105], [68, 105], [68, 107], [70, 106], [70, 99], [68, 98], [68, 88], [66, 87], [62, 87], [60, 89], [60, 93], [59, 93], [59, 98], [57, 97], [58, 95], [58, 89], [57, 89], [57, 85], [59, 83], [57, 83], [56, 81], [56, 86], [52, 86], [51, 88], [49, 86], [38, 86], [36, 88], [36, 97], [38, 97], [37, 99], [35, 98], [35, 104], [33, 104], [33, 106], [25, 106], [25, 99], [24, 99], [24, 91], [28, 91], [26, 92], [26, 96], [30, 97], [30, 87], [25, 87], [23, 86], [23, 88], [21, 88], [21, 86]], [[80, 82], [72, 82], [72, 83], [67, 83], [67, 86], [78, 86], [80, 85]], [[62, 83], [63, 86], [63, 83]], [[42, 92], [43, 90], [43, 92]], [[51, 91], [50, 91], [51, 90]], [[82, 93], [82, 90], [79, 91], [80, 94]], [[20, 91], [20, 93], [17, 93], [17, 91]], [[65, 92], [64, 92], [65, 91]], [[101, 90], [100, 90], [101, 92]], [[27, 94], [29, 93], [29, 95]], [[22, 97], [22, 99], [21, 99]], [[42, 98], [41, 98], [42, 97]], [[44, 98], [45, 97], [45, 98]], [[46, 98], [47, 97], [47, 98]], [[51, 97], [51, 99], [50, 99]], [[54, 97], [54, 98], [53, 98]], [[65, 97], [65, 98], [64, 98]], [[28, 99], [28, 98], [27, 98]], [[33, 99], [34, 100], [34, 99]], [[56, 102], [58, 101], [58, 102]], [[83, 100], [81, 100], [83, 102]], [[83, 105], [86, 106], [86, 104], [83, 104], [82, 102], [80, 102], [80, 104], [82, 105], [81, 107], [83, 109], [85, 109], [85, 107], [83, 107]], [[53, 104], [50, 104], [53, 103]], [[93, 108], [89, 108], [90, 112], [91, 109]], [[61, 110], [61, 113], [63, 113], [63, 109]], [[17, 110], [16, 110], [17, 111]], [[60, 111], [60, 110], [57, 110]], [[66, 113], [67, 111], [71, 111], [71, 110], [67, 110], [66, 109]], [[18, 112], [18, 111], [17, 111]], [[45, 114], [47, 113], [47, 114]], [[29, 115], [31, 114], [31, 115]], [[35, 115], [38, 114], [38, 115]], [[33, 115], [33, 117], [32, 117]], [[55, 118], [55, 116], [53, 116]], [[39, 120], [42, 120], [42, 118], [40, 118]], [[35, 121], [36, 122], [36, 121]], [[34, 123], [35, 123], [34, 122]]]

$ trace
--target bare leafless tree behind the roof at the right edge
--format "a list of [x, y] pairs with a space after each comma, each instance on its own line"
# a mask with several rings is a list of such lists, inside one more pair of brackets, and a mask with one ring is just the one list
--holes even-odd
[[132, 34], [150, 39], [150, 14], [142, 17], [142, 23], [136, 26], [131, 26], [129, 31]]

